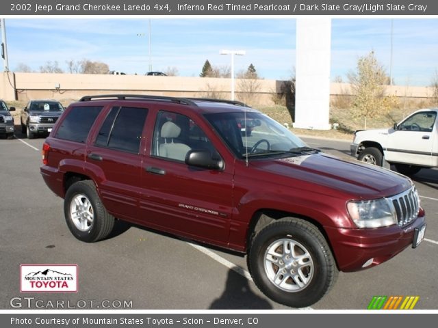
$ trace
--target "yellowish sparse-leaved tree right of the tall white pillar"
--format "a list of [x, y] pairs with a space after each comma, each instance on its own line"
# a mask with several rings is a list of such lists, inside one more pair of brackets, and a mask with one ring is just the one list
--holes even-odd
[[378, 63], [374, 51], [359, 57], [357, 71], [349, 72], [348, 80], [353, 96], [352, 115], [363, 118], [364, 127], [367, 128], [367, 120], [389, 111], [392, 102], [385, 99], [384, 85], [388, 77], [383, 66]]

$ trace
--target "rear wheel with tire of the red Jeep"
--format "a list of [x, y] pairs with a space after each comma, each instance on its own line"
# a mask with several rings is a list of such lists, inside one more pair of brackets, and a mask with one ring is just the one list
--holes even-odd
[[91, 180], [75, 182], [68, 188], [64, 215], [73, 236], [86, 243], [107, 237], [114, 228], [114, 217], [107, 213]]

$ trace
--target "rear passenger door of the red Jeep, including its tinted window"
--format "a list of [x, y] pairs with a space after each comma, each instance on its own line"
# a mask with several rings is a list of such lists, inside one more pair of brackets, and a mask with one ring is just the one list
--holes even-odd
[[142, 133], [149, 109], [114, 105], [86, 150], [107, 210], [121, 219], [138, 216], [142, 174]]

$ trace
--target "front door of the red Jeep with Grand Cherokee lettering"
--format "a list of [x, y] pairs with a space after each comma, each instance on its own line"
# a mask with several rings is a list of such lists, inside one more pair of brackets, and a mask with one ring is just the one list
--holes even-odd
[[158, 111], [151, 152], [143, 163], [140, 213], [144, 221], [169, 232], [224, 244], [231, 219], [233, 163], [221, 170], [184, 163], [182, 153], [188, 150], [220, 156], [198, 122], [175, 111]]

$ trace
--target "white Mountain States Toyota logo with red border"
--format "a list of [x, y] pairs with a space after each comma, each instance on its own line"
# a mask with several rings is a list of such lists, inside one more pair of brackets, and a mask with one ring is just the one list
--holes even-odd
[[21, 292], [77, 292], [76, 264], [21, 264]]

